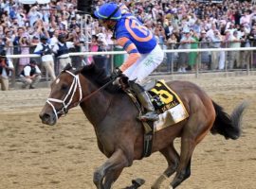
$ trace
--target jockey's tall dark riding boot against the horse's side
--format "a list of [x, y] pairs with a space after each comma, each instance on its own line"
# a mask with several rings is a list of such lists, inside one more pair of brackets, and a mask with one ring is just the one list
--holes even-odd
[[159, 119], [158, 114], [155, 112], [155, 107], [151, 102], [149, 94], [134, 81], [129, 81], [129, 86], [135, 94], [141, 105], [147, 110], [147, 113], [138, 117], [140, 121], [157, 121]]

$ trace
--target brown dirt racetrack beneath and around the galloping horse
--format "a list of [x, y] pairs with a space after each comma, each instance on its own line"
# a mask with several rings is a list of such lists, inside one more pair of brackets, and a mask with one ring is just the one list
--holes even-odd
[[[237, 141], [207, 135], [192, 156], [192, 176], [181, 189], [256, 188], [256, 77], [190, 79], [227, 112], [243, 99], [250, 102], [243, 134]], [[0, 92], [0, 189], [93, 189], [93, 171], [105, 161], [94, 130], [80, 108], [54, 127], [38, 114], [49, 89]], [[179, 146], [179, 141], [176, 141]], [[124, 169], [114, 189], [143, 178], [149, 189], [166, 168], [157, 152]], [[169, 180], [162, 188], [167, 188]]]

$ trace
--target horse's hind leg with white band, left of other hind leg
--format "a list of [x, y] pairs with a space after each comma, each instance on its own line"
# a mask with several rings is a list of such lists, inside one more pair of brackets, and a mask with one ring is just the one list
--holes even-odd
[[171, 146], [167, 146], [166, 148], [160, 150], [160, 152], [164, 155], [165, 159], [167, 160], [168, 167], [155, 180], [154, 184], [151, 186], [152, 189], [160, 188], [161, 183], [174, 174], [179, 164], [179, 155], [174, 148], [174, 142], [171, 144]]

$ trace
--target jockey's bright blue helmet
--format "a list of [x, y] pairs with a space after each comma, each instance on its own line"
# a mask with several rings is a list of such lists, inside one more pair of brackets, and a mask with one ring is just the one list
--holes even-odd
[[116, 3], [106, 3], [94, 11], [94, 15], [101, 20], [119, 21], [121, 11]]

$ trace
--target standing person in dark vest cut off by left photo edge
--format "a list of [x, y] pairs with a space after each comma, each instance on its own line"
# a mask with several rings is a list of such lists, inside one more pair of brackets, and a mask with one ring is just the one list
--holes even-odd
[[0, 84], [2, 91], [9, 90], [9, 76], [10, 72], [14, 70], [14, 66], [10, 60], [6, 57], [6, 51], [0, 52]]

